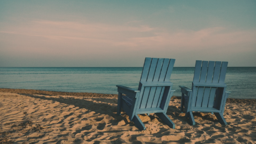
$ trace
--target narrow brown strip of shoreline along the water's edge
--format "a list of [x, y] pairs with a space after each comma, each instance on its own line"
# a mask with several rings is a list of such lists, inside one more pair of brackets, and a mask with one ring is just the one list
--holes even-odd
[[[47, 90], [35, 90], [35, 89], [11, 89], [0, 88], [0, 92], [17, 93], [17, 94], [42, 94], [49, 96], [75, 96], [75, 97], [98, 97], [98, 98], [118, 98], [118, 94], [103, 94], [103, 93], [87, 93], [87, 92], [57, 92]], [[172, 96], [172, 99], [180, 99], [180, 96]], [[227, 98], [227, 103], [248, 103], [255, 104], [256, 99], [239, 99], [239, 98]]]

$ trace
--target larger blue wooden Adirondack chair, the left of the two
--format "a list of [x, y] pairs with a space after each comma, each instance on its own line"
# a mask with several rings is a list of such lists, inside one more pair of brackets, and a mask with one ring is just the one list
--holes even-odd
[[[170, 82], [175, 59], [157, 59], [146, 57], [138, 90], [116, 85], [118, 87], [117, 114], [121, 108], [129, 116], [129, 120], [140, 130], [146, 127], [138, 114], [155, 113], [165, 124], [175, 129], [175, 124], [166, 115], [173, 96], [173, 84]], [[123, 95], [125, 94], [125, 95]]]

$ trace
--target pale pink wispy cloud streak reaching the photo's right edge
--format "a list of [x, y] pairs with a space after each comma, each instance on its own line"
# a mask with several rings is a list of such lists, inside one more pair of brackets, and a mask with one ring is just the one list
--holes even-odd
[[[154, 36], [132, 37], [119, 45], [127, 46], [170, 46], [175, 48], [225, 47], [242, 43], [256, 44], [256, 31], [228, 31], [223, 27], [201, 29], [199, 31], [153, 32]], [[152, 35], [153, 35], [152, 34]]]

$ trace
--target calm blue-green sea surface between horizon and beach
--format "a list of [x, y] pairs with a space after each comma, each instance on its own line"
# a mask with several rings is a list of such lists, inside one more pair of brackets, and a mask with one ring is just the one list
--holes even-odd
[[[138, 88], [142, 68], [0, 68], [0, 88], [117, 94], [115, 85]], [[194, 68], [175, 67], [170, 81], [191, 88]], [[228, 67], [230, 98], [256, 99], [256, 67]]]

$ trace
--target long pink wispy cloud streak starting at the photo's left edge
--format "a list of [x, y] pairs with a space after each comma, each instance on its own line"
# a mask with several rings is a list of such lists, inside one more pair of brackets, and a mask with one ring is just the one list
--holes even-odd
[[[154, 29], [148, 25], [122, 26], [100, 23], [60, 22], [33, 20], [23, 25], [6, 26], [1, 33], [24, 36], [45, 37], [54, 40], [86, 40], [115, 43], [125, 39], [128, 33], [150, 32]], [[131, 36], [130, 36], [131, 37]]]

